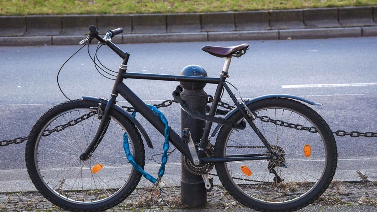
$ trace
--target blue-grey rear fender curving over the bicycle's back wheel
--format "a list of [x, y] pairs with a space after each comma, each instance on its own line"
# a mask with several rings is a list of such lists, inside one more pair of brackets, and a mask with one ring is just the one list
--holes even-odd
[[[262, 95], [262, 96], [255, 97], [255, 98], [252, 98], [251, 100], [246, 101], [245, 104], [249, 105], [249, 104], [254, 103], [256, 101], [259, 101], [259, 100], [264, 100], [264, 99], [268, 99], [268, 98], [278, 98], [278, 97], [295, 99], [295, 100], [303, 101], [303, 102], [311, 104], [311, 105], [322, 105], [321, 103], [315, 103], [315, 102], [310, 101], [310, 100], [308, 100], [306, 98], [297, 97], [297, 96], [289, 95], [289, 94], [268, 94], [268, 95]], [[227, 115], [225, 115], [224, 118], [228, 119], [229, 117], [231, 117], [231, 115], [233, 115], [237, 111], [238, 111], [238, 108], [234, 108], [233, 110], [229, 111], [227, 113]], [[219, 131], [220, 128], [221, 128], [221, 124], [218, 124], [216, 126], [215, 130], [212, 132], [211, 138], [216, 136], [216, 134], [217, 134], [217, 132]]]

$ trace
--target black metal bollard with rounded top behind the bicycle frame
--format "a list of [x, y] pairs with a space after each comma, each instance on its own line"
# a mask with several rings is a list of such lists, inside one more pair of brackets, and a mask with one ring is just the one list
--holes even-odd
[[[181, 75], [207, 76], [207, 72], [200, 66], [190, 65], [182, 69]], [[193, 110], [205, 114], [207, 105], [207, 93], [203, 90], [205, 83], [181, 82], [181, 85], [183, 87], [182, 99], [186, 100]], [[182, 129], [190, 128], [192, 140], [198, 144], [204, 131], [205, 121], [194, 119], [181, 110], [181, 127]], [[181, 161], [181, 202], [190, 208], [205, 207], [207, 189], [205, 189], [202, 176], [190, 173], [184, 166], [184, 162]]]

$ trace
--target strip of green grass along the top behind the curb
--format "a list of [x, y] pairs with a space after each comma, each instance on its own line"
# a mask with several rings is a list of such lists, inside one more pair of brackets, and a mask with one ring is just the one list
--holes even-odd
[[375, 0], [1, 0], [0, 15], [222, 12], [376, 5]]

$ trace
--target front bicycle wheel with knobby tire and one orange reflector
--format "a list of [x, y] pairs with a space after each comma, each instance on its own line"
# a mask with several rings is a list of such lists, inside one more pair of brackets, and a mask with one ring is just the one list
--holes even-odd
[[124, 153], [124, 132], [135, 161], [142, 167], [143, 142], [133, 123], [111, 109], [101, 143], [89, 159], [81, 160], [100, 120], [98, 109], [90, 108], [98, 107], [97, 102], [75, 101], [86, 107], [65, 102], [35, 123], [26, 144], [26, 166], [35, 187], [55, 205], [73, 211], [109, 209], [128, 197], [141, 178]]

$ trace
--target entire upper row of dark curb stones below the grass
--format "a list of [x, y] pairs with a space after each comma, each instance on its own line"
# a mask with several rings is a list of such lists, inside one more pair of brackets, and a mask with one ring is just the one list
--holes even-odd
[[19, 36], [25, 32], [25, 35], [37, 35], [29, 32], [35, 29], [40, 30], [38, 35], [84, 35], [90, 25], [98, 26], [101, 31], [122, 27], [124, 34], [375, 26], [376, 10], [377, 6], [365, 6], [177, 14], [0, 16], [0, 36]]

